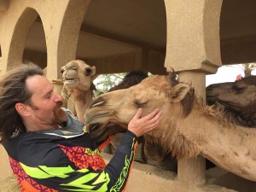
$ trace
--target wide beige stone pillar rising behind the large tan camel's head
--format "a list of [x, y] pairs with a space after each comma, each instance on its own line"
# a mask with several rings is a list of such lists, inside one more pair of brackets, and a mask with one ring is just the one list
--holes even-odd
[[[221, 66], [219, 18], [222, 0], [165, 0], [167, 71], [172, 68], [179, 80], [191, 82], [205, 97], [206, 74]], [[199, 156], [178, 160], [177, 177], [186, 183], [205, 183], [205, 160]]]

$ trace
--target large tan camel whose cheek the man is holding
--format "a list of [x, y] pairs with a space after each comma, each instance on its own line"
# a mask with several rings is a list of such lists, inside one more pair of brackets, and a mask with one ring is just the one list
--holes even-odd
[[163, 112], [160, 125], [144, 135], [148, 143], [158, 143], [178, 160], [201, 154], [224, 170], [256, 182], [256, 130], [234, 125], [218, 108], [206, 106], [191, 85], [178, 81], [175, 72], [151, 75], [131, 88], [96, 97], [84, 115], [85, 124], [111, 122], [125, 129], [137, 108], [143, 108], [143, 115], [154, 108]]

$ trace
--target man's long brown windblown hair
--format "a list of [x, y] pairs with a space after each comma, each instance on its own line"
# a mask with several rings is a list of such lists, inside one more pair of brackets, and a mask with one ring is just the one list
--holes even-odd
[[20, 114], [15, 104], [31, 104], [32, 93], [26, 88], [26, 79], [34, 75], [44, 75], [42, 68], [27, 63], [5, 73], [0, 79], [0, 143], [25, 132]]

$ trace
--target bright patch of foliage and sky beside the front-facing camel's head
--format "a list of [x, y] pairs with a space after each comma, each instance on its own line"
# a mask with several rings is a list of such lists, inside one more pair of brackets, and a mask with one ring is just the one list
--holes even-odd
[[111, 73], [99, 75], [93, 83], [96, 85], [95, 95], [108, 92], [110, 88], [119, 84], [125, 77], [126, 73]]

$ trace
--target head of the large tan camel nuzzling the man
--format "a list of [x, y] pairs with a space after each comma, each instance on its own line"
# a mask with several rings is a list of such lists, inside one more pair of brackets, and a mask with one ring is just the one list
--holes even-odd
[[[156, 130], [161, 135], [161, 129], [172, 125], [171, 116], [188, 115], [193, 106], [189, 104], [189, 101], [193, 96], [194, 90], [189, 84], [178, 83], [176, 73], [170, 73], [168, 76], [151, 75], [143, 79], [140, 84], [128, 89], [113, 90], [96, 97], [85, 113], [85, 123], [87, 125], [101, 124], [94, 128], [89, 126], [90, 135], [95, 132], [98, 138], [106, 137], [108, 132], [113, 134], [114, 131], [108, 130], [109, 126], [105, 125], [113, 123], [126, 129], [138, 108], [143, 108], [142, 116], [150, 113], [154, 108], [160, 108], [163, 117]], [[171, 127], [168, 128], [171, 129]]]

